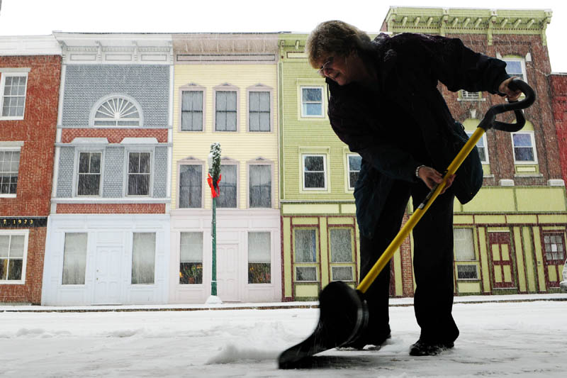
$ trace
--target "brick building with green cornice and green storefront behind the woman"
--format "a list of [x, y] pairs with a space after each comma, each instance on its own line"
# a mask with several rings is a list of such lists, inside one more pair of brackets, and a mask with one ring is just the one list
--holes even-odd
[[[507, 72], [521, 77], [537, 94], [534, 105], [524, 111], [527, 123], [522, 130], [488, 130], [477, 144], [483, 188], [470, 203], [456, 201], [454, 207], [456, 294], [558, 291], [566, 258], [567, 149], [561, 142], [567, 137], [567, 77], [548, 79], [550, 22], [549, 10], [394, 6], [384, 20], [381, 30], [392, 34], [460, 38], [468, 48], [504, 60]], [[488, 92], [451, 92], [440, 83], [439, 90], [469, 134], [490, 106], [504, 101]], [[511, 122], [513, 116], [498, 119]], [[412, 295], [414, 289], [408, 274], [411, 245], [410, 239], [401, 248], [403, 269], [398, 272], [403, 270], [403, 284], [397, 295]]]

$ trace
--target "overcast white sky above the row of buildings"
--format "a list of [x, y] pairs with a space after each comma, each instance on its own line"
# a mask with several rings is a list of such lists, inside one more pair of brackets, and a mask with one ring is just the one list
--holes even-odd
[[567, 1], [563, 0], [0, 0], [0, 4], [0, 35], [47, 35], [53, 30], [308, 33], [330, 19], [372, 33], [380, 29], [390, 6], [551, 9], [554, 15], [547, 28], [551, 70], [567, 72]]

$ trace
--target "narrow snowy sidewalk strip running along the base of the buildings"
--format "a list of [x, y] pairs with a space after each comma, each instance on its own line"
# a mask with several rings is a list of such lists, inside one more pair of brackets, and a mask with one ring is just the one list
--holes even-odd
[[[455, 304], [495, 302], [567, 301], [567, 293], [560, 294], [512, 294], [487, 296], [456, 296]], [[390, 306], [413, 306], [413, 298], [391, 298]], [[224, 304], [128, 304], [105, 306], [33, 306], [0, 305], [2, 312], [126, 312], [126, 311], [210, 311], [210, 310], [273, 310], [284, 308], [318, 308], [317, 301], [274, 303], [224, 303]]]

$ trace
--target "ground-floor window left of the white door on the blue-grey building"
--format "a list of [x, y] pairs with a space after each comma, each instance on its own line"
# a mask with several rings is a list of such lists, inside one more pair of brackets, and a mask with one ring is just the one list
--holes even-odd
[[84, 285], [85, 269], [86, 233], [65, 233], [62, 284]]

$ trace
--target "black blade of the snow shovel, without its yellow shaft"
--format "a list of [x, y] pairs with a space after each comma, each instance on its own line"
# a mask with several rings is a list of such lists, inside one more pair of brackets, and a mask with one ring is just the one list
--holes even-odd
[[301, 367], [308, 357], [356, 340], [368, 323], [368, 308], [360, 291], [342, 281], [322, 289], [319, 308], [319, 323], [313, 334], [279, 355], [280, 369]]

